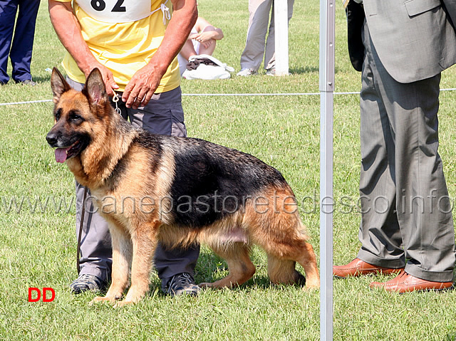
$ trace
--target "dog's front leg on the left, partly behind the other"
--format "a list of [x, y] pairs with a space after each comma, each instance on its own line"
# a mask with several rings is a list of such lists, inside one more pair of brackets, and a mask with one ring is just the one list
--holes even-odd
[[128, 286], [128, 271], [133, 251], [130, 236], [117, 226], [110, 226], [109, 231], [113, 245], [112, 282], [105, 297], [95, 297], [90, 301], [90, 305], [102, 301], [115, 303], [116, 300], [122, 299], [123, 292]]

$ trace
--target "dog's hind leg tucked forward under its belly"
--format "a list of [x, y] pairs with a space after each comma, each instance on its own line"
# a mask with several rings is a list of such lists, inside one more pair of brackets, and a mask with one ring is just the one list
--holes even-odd
[[214, 283], [200, 283], [205, 288], [232, 288], [241, 285], [255, 273], [255, 266], [250, 260], [250, 248], [245, 243], [232, 243], [231, 245], [214, 247], [211, 246], [214, 253], [224, 258], [228, 264], [228, 276], [217, 280]]

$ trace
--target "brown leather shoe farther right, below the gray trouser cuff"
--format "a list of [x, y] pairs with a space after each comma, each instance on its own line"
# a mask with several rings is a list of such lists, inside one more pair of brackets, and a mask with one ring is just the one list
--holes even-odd
[[398, 276], [387, 282], [372, 282], [371, 288], [384, 288], [387, 291], [396, 291], [398, 293], [410, 293], [411, 291], [441, 291], [454, 288], [452, 282], [432, 282], [422, 280], [415, 276], [401, 271]]

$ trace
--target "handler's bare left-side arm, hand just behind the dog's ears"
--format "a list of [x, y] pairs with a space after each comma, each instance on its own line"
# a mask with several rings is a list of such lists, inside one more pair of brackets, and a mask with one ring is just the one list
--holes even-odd
[[73, 14], [71, 2], [48, 0], [48, 6], [51, 23], [58, 38], [74, 58], [84, 75], [86, 75], [86, 78], [91, 70], [99, 68], [105, 81], [106, 92], [110, 96], [114, 95], [113, 90], [119, 87], [115, 84], [113, 73], [108, 68], [105, 68], [104, 65], [98, 63], [90, 52], [86, 41], [83, 39], [78, 19]]

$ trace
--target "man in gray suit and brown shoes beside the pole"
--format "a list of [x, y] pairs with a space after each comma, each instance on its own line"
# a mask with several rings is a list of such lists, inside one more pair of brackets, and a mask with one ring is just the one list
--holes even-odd
[[347, 15], [351, 62], [362, 71], [362, 246], [333, 274], [399, 273], [371, 287], [400, 293], [452, 288], [455, 231], [437, 111], [440, 73], [456, 63], [456, 1], [358, 3]]

